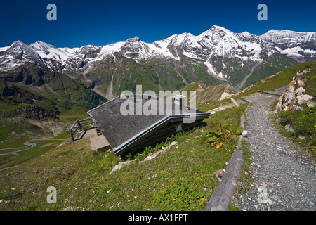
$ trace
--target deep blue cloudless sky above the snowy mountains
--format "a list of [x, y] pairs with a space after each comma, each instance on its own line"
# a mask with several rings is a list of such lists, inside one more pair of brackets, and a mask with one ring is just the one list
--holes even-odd
[[[57, 21], [48, 21], [48, 4], [57, 6]], [[268, 6], [259, 21], [258, 4]], [[198, 35], [219, 25], [233, 32], [316, 31], [316, 0], [0, 0], [0, 47], [37, 40], [57, 47], [96, 46], [140, 37], [152, 43], [173, 34]]]

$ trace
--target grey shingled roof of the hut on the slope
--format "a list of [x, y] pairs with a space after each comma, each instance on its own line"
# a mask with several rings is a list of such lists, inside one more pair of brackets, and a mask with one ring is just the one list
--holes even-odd
[[[185, 114], [188, 117], [192, 113], [204, 116], [210, 115], [209, 113], [202, 113], [194, 109], [188, 110], [186, 107], [182, 114], [177, 114], [172, 101], [165, 99], [164, 108], [159, 108], [159, 99], [151, 98], [151, 100], [157, 101], [157, 115], [121, 115], [121, 105], [126, 101], [129, 101], [129, 104], [134, 106], [137, 103], [141, 103], [142, 107], [149, 101], [146, 96], [136, 96], [136, 94], [129, 96], [129, 98], [126, 98], [126, 96], [114, 98], [112, 101], [108, 101], [88, 111], [88, 115], [90, 115], [93, 122], [95, 122], [110, 143], [114, 153], [120, 150], [120, 148], [128, 146], [129, 142], [133, 141], [133, 139], [139, 139], [141, 134], [149, 131], [150, 128], [169, 120], [171, 117], [185, 117]], [[167, 106], [169, 106], [168, 110]], [[136, 108], [134, 112], [136, 114]]]

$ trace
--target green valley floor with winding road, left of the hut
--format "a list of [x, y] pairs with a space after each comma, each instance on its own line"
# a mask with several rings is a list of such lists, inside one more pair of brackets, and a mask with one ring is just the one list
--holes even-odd
[[[4, 109], [1, 113], [9, 113], [12, 110], [18, 108], [27, 107], [27, 104], [20, 103], [18, 105], [9, 105], [6, 103], [0, 104]], [[26, 146], [23, 145], [25, 141], [31, 139], [67, 139], [70, 138], [69, 132], [66, 128], [77, 119], [84, 119], [88, 117], [85, 108], [72, 108], [71, 110], [66, 110], [58, 117], [61, 121], [29, 121], [18, 117], [0, 117], [0, 149], [2, 148], [18, 148], [16, 150], [21, 150]], [[54, 130], [54, 132], [52, 132]], [[33, 141], [37, 146], [31, 150], [25, 152], [10, 154], [10, 155], [0, 155], [0, 169], [4, 167], [12, 167], [15, 165], [20, 165], [22, 162], [27, 160], [32, 160], [34, 158], [39, 158], [58, 146], [63, 141]], [[12, 152], [11, 150], [1, 150], [0, 153]]]

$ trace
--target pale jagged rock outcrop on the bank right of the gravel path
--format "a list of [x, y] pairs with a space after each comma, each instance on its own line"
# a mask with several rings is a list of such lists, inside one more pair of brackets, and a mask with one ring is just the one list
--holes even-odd
[[303, 105], [308, 107], [313, 107], [316, 103], [313, 101], [313, 97], [305, 94], [305, 80], [302, 76], [309, 71], [300, 70], [293, 77], [292, 81], [289, 83], [287, 91], [279, 97], [279, 102], [275, 107], [277, 111], [286, 110], [303, 110]]

